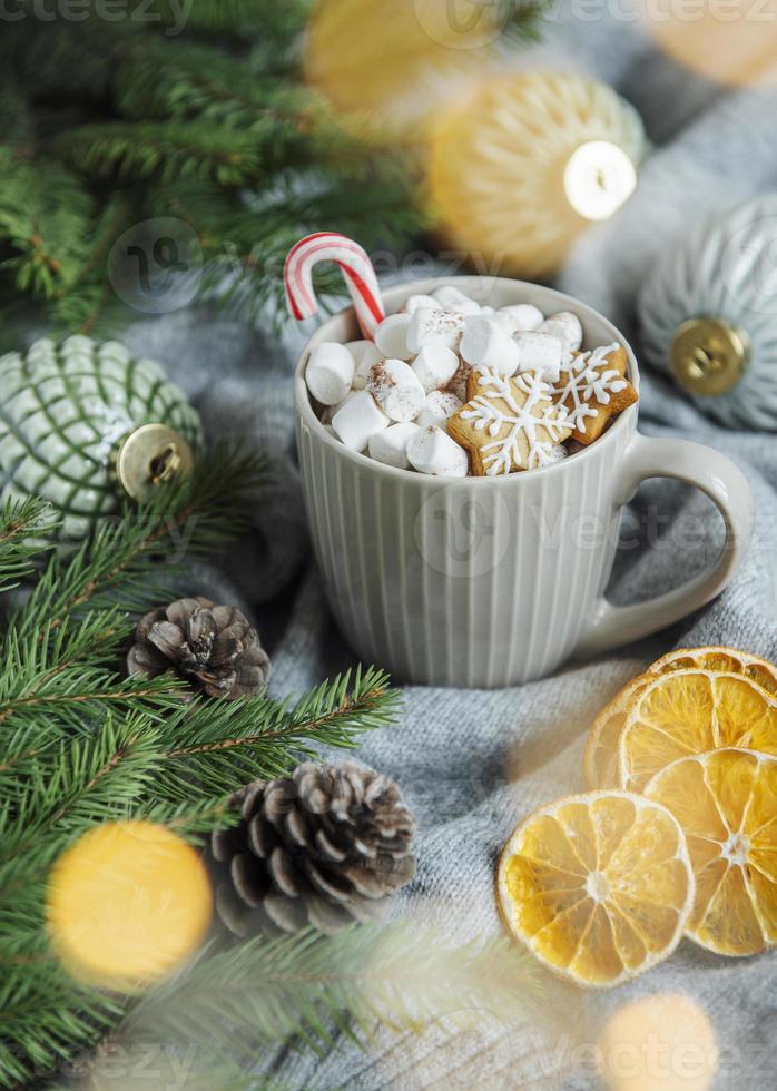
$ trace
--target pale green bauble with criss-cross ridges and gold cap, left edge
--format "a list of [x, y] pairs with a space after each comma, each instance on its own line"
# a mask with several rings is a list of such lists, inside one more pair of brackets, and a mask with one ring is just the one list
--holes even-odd
[[[138, 432], [153, 424], [165, 427]], [[83, 539], [127, 493], [142, 495], [141, 484], [185, 471], [200, 442], [184, 393], [118, 342], [42, 340], [0, 357], [0, 502], [43, 497], [62, 517], [61, 543]]]

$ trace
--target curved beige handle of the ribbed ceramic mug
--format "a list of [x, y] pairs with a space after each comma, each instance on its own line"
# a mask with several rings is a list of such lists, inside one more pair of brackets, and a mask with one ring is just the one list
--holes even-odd
[[576, 658], [587, 658], [679, 621], [714, 599], [732, 579], [745, 558], [753, 537], [755, 507], [742, 472], [712, 448], [688, 440], [648, 439], [635, 433], [626, 452], [616, 507], [633, 498], [648, 478], [675, 478], [706, 493], [726, 523], [726, 543], [715, 567], [647, 602], [612, 606], [600, 598], [593, 619], [574, 649]]

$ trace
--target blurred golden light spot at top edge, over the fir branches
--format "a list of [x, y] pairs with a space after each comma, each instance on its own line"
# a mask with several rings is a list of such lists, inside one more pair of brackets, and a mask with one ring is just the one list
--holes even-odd
[[348, 128], [404, 139], [452, 87], [482, 71], [508, 13], [482, 0], [319, 0], [305, 75]]

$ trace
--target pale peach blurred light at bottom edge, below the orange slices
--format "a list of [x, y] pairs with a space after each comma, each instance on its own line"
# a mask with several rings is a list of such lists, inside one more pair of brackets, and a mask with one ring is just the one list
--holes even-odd
[[707, 1091], [718, 1043], [695, 1000], [665, 993], [618, 1009], [600, 1036], [599, 1058], [611, 1091]]

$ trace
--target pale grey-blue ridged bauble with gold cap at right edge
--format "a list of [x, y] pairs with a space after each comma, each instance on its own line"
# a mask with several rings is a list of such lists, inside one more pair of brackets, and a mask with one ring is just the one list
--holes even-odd
[[645, 360], [708, 416], [777, 431], [777, 194], [705, 217], [638, 301]]

